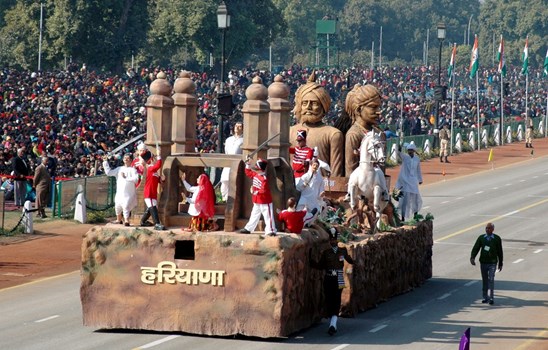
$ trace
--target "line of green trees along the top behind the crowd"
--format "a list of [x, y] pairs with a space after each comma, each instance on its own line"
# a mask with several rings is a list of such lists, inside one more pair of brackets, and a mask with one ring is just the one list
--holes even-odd
[[[316, 20], [336, 19], [332, 38], [341, 66], [374, 63], [423, 64], [429, 31], [428, 62], [437, 65], [436, 27], [443, 22], [443, 65], [452, 43], [458, 64], [469, 60], [478, 34], [480, 57], [496, 52], [505, 39], [506, 60], [520, 64], [529, 37], [530, 65], [542, 65], [548, 45], [546, 0], [225, 0], [231, 16], [226, 32], [228, 67], [267, 69], [272, 64], [310, 64]], [[124, 71], [137, 66], [203, 69], [220, 64], [219, 0], [42, 0], [42, 69], [66, 62], [93, 69]], [[41, 3], [0, 1], [0, 66], [36, 69]], [[380, 33], [382, 27], [382, 51]], [[271, 51], [270, 51], [271, 49]], [[466, 54], [463, 54], [466, 53]], [[485, 60], [483, 61], [485, 62]], [[217, 71], [217, 70], [215, 70]]]

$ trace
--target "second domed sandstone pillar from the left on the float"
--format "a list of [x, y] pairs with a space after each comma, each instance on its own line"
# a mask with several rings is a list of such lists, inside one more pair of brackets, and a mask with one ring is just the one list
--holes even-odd
[[173, 86], [173, 130], [171, 147], [173, 154], [195, 153], [196, 139], [196, 84], [190, 79], [190, 73], [181, 72]]

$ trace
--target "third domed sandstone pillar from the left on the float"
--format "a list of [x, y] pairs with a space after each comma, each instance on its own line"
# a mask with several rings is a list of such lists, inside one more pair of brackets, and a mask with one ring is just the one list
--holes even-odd
[[[268, 139], [268, 90], [259, 77], [253, 78], [253, 84], [245, 91], [247, 101], [244, 103], [244, 143], [242, 145], [244, 159], [255, 151], [260, 144]], [[261, 149], [254, 158], [267, 158], [266, 148]]]

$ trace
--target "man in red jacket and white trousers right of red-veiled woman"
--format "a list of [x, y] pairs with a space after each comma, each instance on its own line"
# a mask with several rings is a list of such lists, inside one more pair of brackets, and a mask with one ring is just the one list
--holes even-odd
[[277, 230], [272, 207], [272, 194], [270, 193], [268, 178], [266, 176], [266, 166], [268, 163], [266, 160], [259, 158], [256, 163], [257, 171], [254, 171], [251, 170], [249, 161], [250, 159], [248, 158], [245, 162], [245, 175], [253, 180], [253, 184], [251, 185], [253, 209], [251, 210], [249, 221], [240, 230], [240, 233], [253, 232], [262, 216], [265, 225], [265, 235], [275, 236]]

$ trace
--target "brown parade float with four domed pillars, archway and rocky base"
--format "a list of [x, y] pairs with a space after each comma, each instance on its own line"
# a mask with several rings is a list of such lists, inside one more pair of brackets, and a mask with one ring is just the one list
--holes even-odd
[[[158, 207], [168, 229], [109, 224], [87, 232], [80, 287], [84, 325], [269, 338], [318, 322], [323, 271], [312, 269], [310, 261], [328, 246], [326, 226], [318, 223], [301, 234], [268, 237], [238, 233], [252, 205], [251, 183], [244, 174], [247, 156], [268, 159], [275, 208], [299, 195], [289, 165], [291, 107], [282, 77], [268, 89], [254, 78], [247, 88], [241, 155], [195, 151], [197, 99], [188, 72], [173, 87], [160, 73], [150, 91], [145, 143], [159, 148], [165, 160]], [[190, 216], [181, 203], [181, 173], [195, 182], [205, 169], [222, 167], [231, 171], [228, 199], [215, 205], [219, 231], [182, 230]], [[326, 181], [326, 195], [342, 203], [337, 198], [344, 195], [348, 178]], [[348, 233], [343, 222], [331, 225]], [[352, 317], [430, 278], [432, 230], [431, 220], [401, 227], [388, 221], [381, 230], [344, 235], [340, 244], [354, 265], [344, 276], [348, 288], [341, 315]]]

